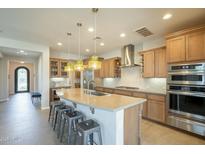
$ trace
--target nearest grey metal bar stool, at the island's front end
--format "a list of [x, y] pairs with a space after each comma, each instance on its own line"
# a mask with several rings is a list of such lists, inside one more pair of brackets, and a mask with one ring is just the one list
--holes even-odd
[[82, 136], [83, 145], [88, 144], [88, 137], [90, 139], [90, 144], [93, 145], [94, 143], [93, 133], [97, 133], [99, 144], [102, 145], [101, 129], [100, 129], [100, 125], [96, 121], [89, 119], [78, 123], [77, 131], [78, 134]]

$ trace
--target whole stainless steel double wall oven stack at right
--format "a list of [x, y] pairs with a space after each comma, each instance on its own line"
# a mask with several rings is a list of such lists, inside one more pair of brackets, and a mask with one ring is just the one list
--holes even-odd
[[205, 136], [205, 63], [168, 66], [167, 123]]

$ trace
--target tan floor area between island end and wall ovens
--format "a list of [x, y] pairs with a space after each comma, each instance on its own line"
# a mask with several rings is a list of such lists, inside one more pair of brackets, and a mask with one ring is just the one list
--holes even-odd
[[205, 139], [142, 120], [142, 144], [148, 145], [190, 145], [205, 144]]

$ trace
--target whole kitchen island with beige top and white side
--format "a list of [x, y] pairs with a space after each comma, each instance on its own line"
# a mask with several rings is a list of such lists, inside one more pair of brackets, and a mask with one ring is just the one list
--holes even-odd
[[141, 113], [146, 99], [116, 94], [96, 96], [80, 88], [63, 90], [60, 98], [84, 113], [86, 119], [100, 124], [103, 144], [140, 144]]

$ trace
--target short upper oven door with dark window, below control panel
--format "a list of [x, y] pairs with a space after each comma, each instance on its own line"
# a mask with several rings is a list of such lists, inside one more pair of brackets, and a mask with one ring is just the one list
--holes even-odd
[[168, 83], [205, 85], [205, 72], [169, 73]]

